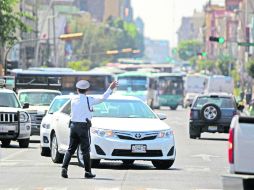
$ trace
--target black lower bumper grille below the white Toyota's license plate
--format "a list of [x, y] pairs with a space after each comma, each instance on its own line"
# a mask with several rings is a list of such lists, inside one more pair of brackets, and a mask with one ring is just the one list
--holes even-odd
[[132, 153], [131, 150], [114, 149], [112, 156], [158, 157], [162, 156], [162, 152], [161, 150], [147, 150], [146, 153]]

